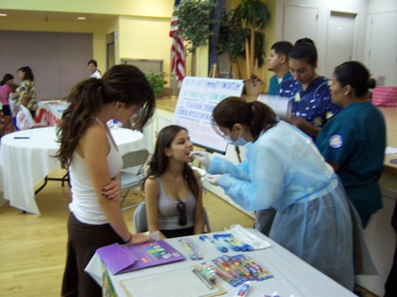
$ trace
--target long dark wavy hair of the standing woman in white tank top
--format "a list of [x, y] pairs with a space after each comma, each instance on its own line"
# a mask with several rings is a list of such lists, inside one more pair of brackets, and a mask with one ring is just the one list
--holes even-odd
[[84, 133], [106, 103], [121, 102], [126, 107], [143, 106], [135, 129], [141, 129], [152, 118], [155, 96], [146, 76], [136, 66], [114, 65], [102, 79], [90, 78], [78, 83], [66, 97], [69, 106], [58, 126], [60, 148], [57, 157], [67, 168]]

